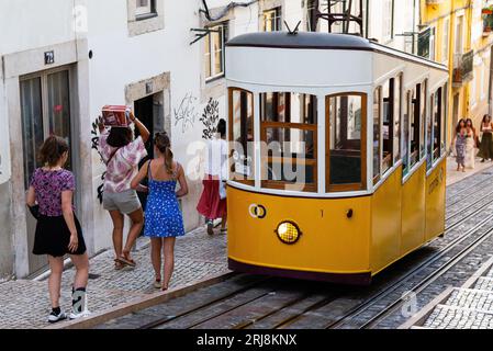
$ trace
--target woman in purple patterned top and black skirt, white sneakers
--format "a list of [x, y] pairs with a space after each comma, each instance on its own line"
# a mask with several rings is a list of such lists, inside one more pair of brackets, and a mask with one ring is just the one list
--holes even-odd
[[69, 317], [76, 319], [88, 313], [86, 286], [89, 259], [79, 220], [74, 214], [75, 178], [64, 169], [67, 159], [67, 143], [57, 136], [47, 138], [40, 151], [40, 161], [44, 167], [35, 170], [27, 192], [27, 206], [37, 219], [33, 253], [47, 254], [52, 270], [48, 280], [53, 308], [49, 322], [67, 318], [59, 305], [65, 254], [70, 256], [77, 271]]

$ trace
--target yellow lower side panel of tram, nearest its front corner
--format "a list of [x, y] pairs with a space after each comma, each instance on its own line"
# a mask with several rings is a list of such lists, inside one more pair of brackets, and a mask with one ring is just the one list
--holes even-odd
[[378, 273], [401, 257], [402, 167], [371, 199], [371, 272]]

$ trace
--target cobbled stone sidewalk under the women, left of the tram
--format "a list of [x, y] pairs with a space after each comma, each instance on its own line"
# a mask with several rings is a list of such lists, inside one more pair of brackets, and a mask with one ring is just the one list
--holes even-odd
[[[91, 258], [88, 285], [88, 307], [91, 312], [101, 312], [158, 292], [153, 287], [154, 270], [148, 240], [139, 238], [136, 247], [138, 249], [133, 252], [133, 258], [137, 267], [132, 270], [115, 271], [112, 250]], [[198, 228], [178, 238], [170, 287], [192, 285], [221, 272], [228, 272], [225, 235], [210, 237], [204, 228]], [[74, 274], [71, 268], [63, 278], [60, 304], [65, 310], [71, 307]], [[0, 329], [47, 327], [46, 318], [51, 312], [47, 281], [0, 282]]]

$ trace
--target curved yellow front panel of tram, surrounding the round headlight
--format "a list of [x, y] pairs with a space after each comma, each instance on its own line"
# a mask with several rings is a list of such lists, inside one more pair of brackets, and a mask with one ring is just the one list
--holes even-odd
[[[371, 197], [288, 197], [233, 185], [228, 186], [227, 195], [231, 260], [288, 271], [370, 272]], [[285, 220], [295, 223], [302, 233], [293, 245], [283, 244], [276, 234], [276, 228]]]

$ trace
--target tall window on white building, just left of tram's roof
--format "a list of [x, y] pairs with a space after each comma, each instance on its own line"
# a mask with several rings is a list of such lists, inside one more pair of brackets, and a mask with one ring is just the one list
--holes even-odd
[[205, 36], [205, 79], [211, 80], [224, 76], [224, 43], [227, 41], [227, 24], [209, 27]]

